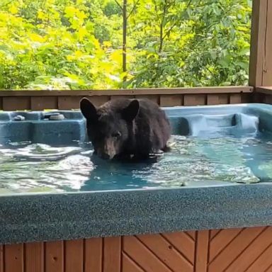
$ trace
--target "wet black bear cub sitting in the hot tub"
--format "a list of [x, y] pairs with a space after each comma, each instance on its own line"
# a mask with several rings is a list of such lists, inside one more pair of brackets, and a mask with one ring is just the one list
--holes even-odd
[[118, 98], [96, 108], [82, 98], [80, 109], [98, 157], [147, 159], [159, 150], [168, 150], [169, 120], [152, 101]]

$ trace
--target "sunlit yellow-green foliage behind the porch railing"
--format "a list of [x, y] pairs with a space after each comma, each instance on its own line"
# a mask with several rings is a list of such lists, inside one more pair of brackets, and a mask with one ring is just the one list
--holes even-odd
[[128, 0], [126, 73], [120, 6], [1, 0], [0, 89], [247, 84], [251, 1]]

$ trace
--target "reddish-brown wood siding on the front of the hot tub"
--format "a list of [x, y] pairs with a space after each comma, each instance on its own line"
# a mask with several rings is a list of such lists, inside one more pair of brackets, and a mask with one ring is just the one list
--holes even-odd
[[272, 227], [0, 246], [0, 272], [268, 272]]

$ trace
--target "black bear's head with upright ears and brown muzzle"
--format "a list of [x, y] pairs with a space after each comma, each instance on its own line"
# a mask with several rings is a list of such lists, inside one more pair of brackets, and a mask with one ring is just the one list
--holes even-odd
[[87, 98], [82, 98], [80, 109], [86, 118], [87, 133], [98, 157], [113, 159], [124, 152], [133, 135], [132, 123], [139, 113], [139, 101], [109, 101], [96, 108]]

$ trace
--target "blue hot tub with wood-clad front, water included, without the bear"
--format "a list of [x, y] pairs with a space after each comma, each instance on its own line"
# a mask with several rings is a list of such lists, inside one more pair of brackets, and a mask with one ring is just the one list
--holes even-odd
[[78, 111], [0, 113], [0, 271], [270, 271], [272, 106], [164, 110], [174, 151], [137, 166]]

